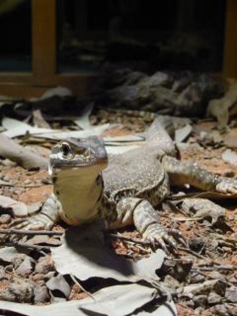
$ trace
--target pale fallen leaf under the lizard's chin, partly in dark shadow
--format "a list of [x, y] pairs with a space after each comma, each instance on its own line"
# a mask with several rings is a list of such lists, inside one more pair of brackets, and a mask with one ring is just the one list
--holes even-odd
[[52, 249], [57, 271], [72, 274], [79, 280], [113, 278], [118, 281], [137, 282], [156, 279], [156, 269], [163, 263], [165, 252], [158, 249], [149, 258], [132, 262], [113, 254], [104, 243], [104, 234], [98, 223], [70, 227], [62, 246]]

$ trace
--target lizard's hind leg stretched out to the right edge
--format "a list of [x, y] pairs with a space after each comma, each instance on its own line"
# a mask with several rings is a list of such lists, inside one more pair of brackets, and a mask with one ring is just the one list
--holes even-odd
[[202, 190], [220, 193], [237, 193], [237, 179], [215, 175], [197, 164], [184, 164], [177, 159], [164, 156], [162, 165], [172, 184], [191, 184]]

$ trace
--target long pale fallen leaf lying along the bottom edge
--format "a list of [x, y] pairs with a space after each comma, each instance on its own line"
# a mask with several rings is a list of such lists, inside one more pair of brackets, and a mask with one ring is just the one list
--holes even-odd
[[[0, 301], [0, 309], [5, 312], [17, 312], [27, 316], [85, 316], [114, 315], [124, 316], [144, 306], [154, 299], [154, 289], [138, 284], [116, 285], [104, 288], [93, 294], [93, 298], [55, 303], [46, 306], [32, 306], [13, 302]], [[155, 306], [153, 306], [155, 308]], [[9, 313], [10, 314], [10, 313]], [[136, 312], [136, 315], [177, 316], [172, 301], [166, 301], [155, 310], [147, 313]]]

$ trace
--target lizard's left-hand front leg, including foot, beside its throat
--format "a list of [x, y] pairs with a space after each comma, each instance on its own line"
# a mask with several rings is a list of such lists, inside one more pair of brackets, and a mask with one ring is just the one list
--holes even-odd
[[14, 229], [49, 230], [60, 220], [61, 209], [59, 199], [51, 194], [44, 202], [41, 211], [31, 217], [13, 221], [11, 227]]

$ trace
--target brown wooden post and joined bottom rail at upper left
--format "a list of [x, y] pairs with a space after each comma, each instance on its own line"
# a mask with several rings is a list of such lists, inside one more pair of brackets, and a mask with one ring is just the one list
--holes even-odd
[[65, 86], [84, 95], [95, 74], [57, 73], [57, 0], [31, 0], [31, 72], [0, 73], [0, 94], [20, 97], [40, 96], [46, 89]]

